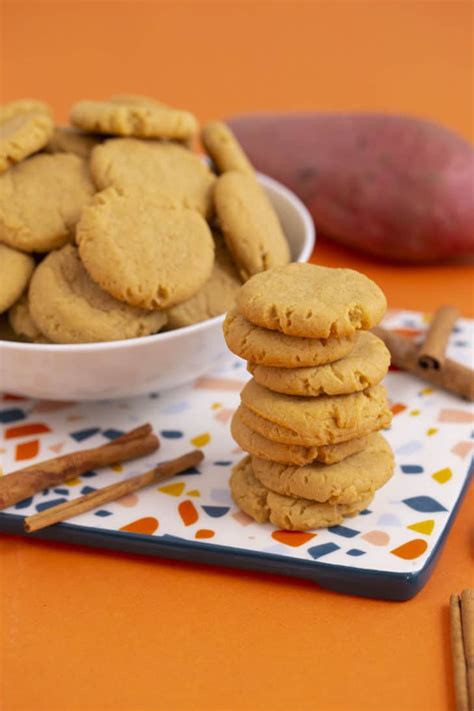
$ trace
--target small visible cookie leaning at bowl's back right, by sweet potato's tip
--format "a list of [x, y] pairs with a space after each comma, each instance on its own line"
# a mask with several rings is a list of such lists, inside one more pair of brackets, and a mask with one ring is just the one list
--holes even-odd
[[219, 173], [236, 170], [255, 175], [252, 164], [225, 123], [210, 121], [202, 129], [202, 142]]

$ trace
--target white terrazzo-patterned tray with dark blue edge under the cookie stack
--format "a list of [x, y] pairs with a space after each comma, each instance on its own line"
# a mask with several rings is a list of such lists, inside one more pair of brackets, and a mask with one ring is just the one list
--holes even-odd
[[[427, 320], [392, 312], [388, 328], [417, 338]], [[449, 355], [472, 367], [474, 321], [460, 320]], [[202, 447], [199, 470], [58, 524], [38, 538], [310, 578], [345, 593], [406, 600], [427, 581], [472, 474], [473, 407], [400, 372], [386, 379], [394, 413], [386, 432], [396, 473], [370, 509], [343, 526], [298, 533], [256, 524], [233, 504], [227, 485], [242, 456], [229, 420], [247, 375], [224, 367], [189, 386], [127, 401], [45, 402], [5, 395], [0, 461], [5, 472], [97, 446], [150, 421], [159, 456], [89, 472], [0, 513], [0, 531], [22, 533], [25, 515], [141, 473], [157, 461]], [[238, 574], [238, 573], [236, 573]]]

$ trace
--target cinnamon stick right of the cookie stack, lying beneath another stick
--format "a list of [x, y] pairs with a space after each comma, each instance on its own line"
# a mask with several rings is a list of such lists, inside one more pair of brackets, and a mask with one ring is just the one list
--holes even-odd
[[422, 368], [418, 363], [418, 348], [404, 336], [377, 326], [373, 333], [382, 339], [397, 368], [417, 375], [422, 380], [449, 390], [471, 402], [474, 400], [474, 371], [446, 358], [440, 370]]

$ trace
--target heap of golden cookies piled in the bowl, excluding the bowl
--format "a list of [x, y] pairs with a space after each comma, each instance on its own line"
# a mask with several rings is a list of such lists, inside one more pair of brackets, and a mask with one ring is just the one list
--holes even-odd
[[[151, 97], [0, 107], [0, 338], [134, 338], [225, 313], [288, 263], [272, 205], [230, 130]], [[5, 325], [5, 324], [4, 324]]]

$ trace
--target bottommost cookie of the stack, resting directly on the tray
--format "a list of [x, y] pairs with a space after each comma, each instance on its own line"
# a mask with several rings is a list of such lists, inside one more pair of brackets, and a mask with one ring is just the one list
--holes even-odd
[[248, 516], [258, 523], [271, 521], [287, 531], [307, 531], [337, 526], [346, 516], [356, 516], [372, 501], [366, 496], [351, 504], [316, 503], [308, 499], [281, 496], [266, 489], [255, 477], [250, 457], [245, 457], [232, 469], [232, 498]]

